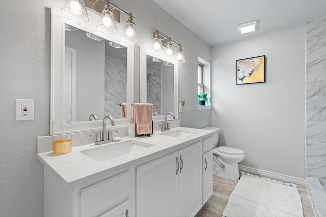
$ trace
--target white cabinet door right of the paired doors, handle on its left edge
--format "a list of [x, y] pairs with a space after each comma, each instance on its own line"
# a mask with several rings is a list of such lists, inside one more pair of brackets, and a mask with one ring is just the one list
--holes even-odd
[[194, 216], [202, 205], [202, 143], [179, 150], [178, 216]]

